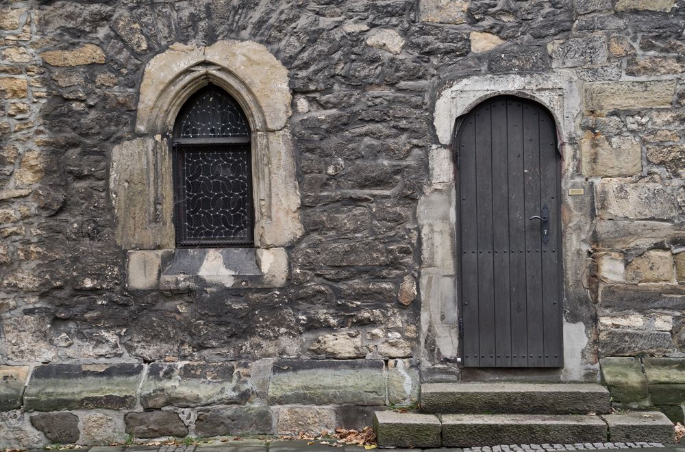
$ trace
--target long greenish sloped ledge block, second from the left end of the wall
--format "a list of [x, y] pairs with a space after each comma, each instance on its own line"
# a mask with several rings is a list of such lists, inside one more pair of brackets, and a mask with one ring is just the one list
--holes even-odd
[[132, 408], [141, 364], [54, 364], [34, 369], [24, 395], [26, 410]]

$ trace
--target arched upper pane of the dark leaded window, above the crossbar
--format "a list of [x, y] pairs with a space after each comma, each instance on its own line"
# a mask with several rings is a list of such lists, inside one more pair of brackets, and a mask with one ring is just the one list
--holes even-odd
[[176, 119], [177, 137], [249, 136], [247, 118], [227, 92], [212, 85], [199, 90]]

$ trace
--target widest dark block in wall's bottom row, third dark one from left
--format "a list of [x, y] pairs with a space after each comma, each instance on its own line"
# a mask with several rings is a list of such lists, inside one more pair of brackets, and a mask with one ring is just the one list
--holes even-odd
[[269, 407], [231, 407], [197, 414], [198, 436], [271, 435], [273, 413]]

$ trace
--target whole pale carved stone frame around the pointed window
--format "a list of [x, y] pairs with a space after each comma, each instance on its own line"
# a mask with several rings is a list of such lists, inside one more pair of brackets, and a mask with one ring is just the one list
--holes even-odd
[[[210, 83], [232, 95], [250, 123], [253, 249], [175, 249], [171, 133], [188, 98]], [[207, 47], [174, 44], [150, 60], [140, 84], [138, 138], [114, 147], [110, 166], [116, 240], [129, 250], [129, 288], [286, 284], [285, 247], [303, 234], [288, 127], [291, 100], [288, 70], [257, 42], [223, 40]], [[177, 274], [166, 274], [169, 268]]]

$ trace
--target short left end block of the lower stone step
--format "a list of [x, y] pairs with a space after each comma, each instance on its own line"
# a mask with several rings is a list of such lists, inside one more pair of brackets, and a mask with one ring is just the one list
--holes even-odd
[[433, 414], [379, 411], [373, 429], [382, 447], [440, 447], [440, 420]]

